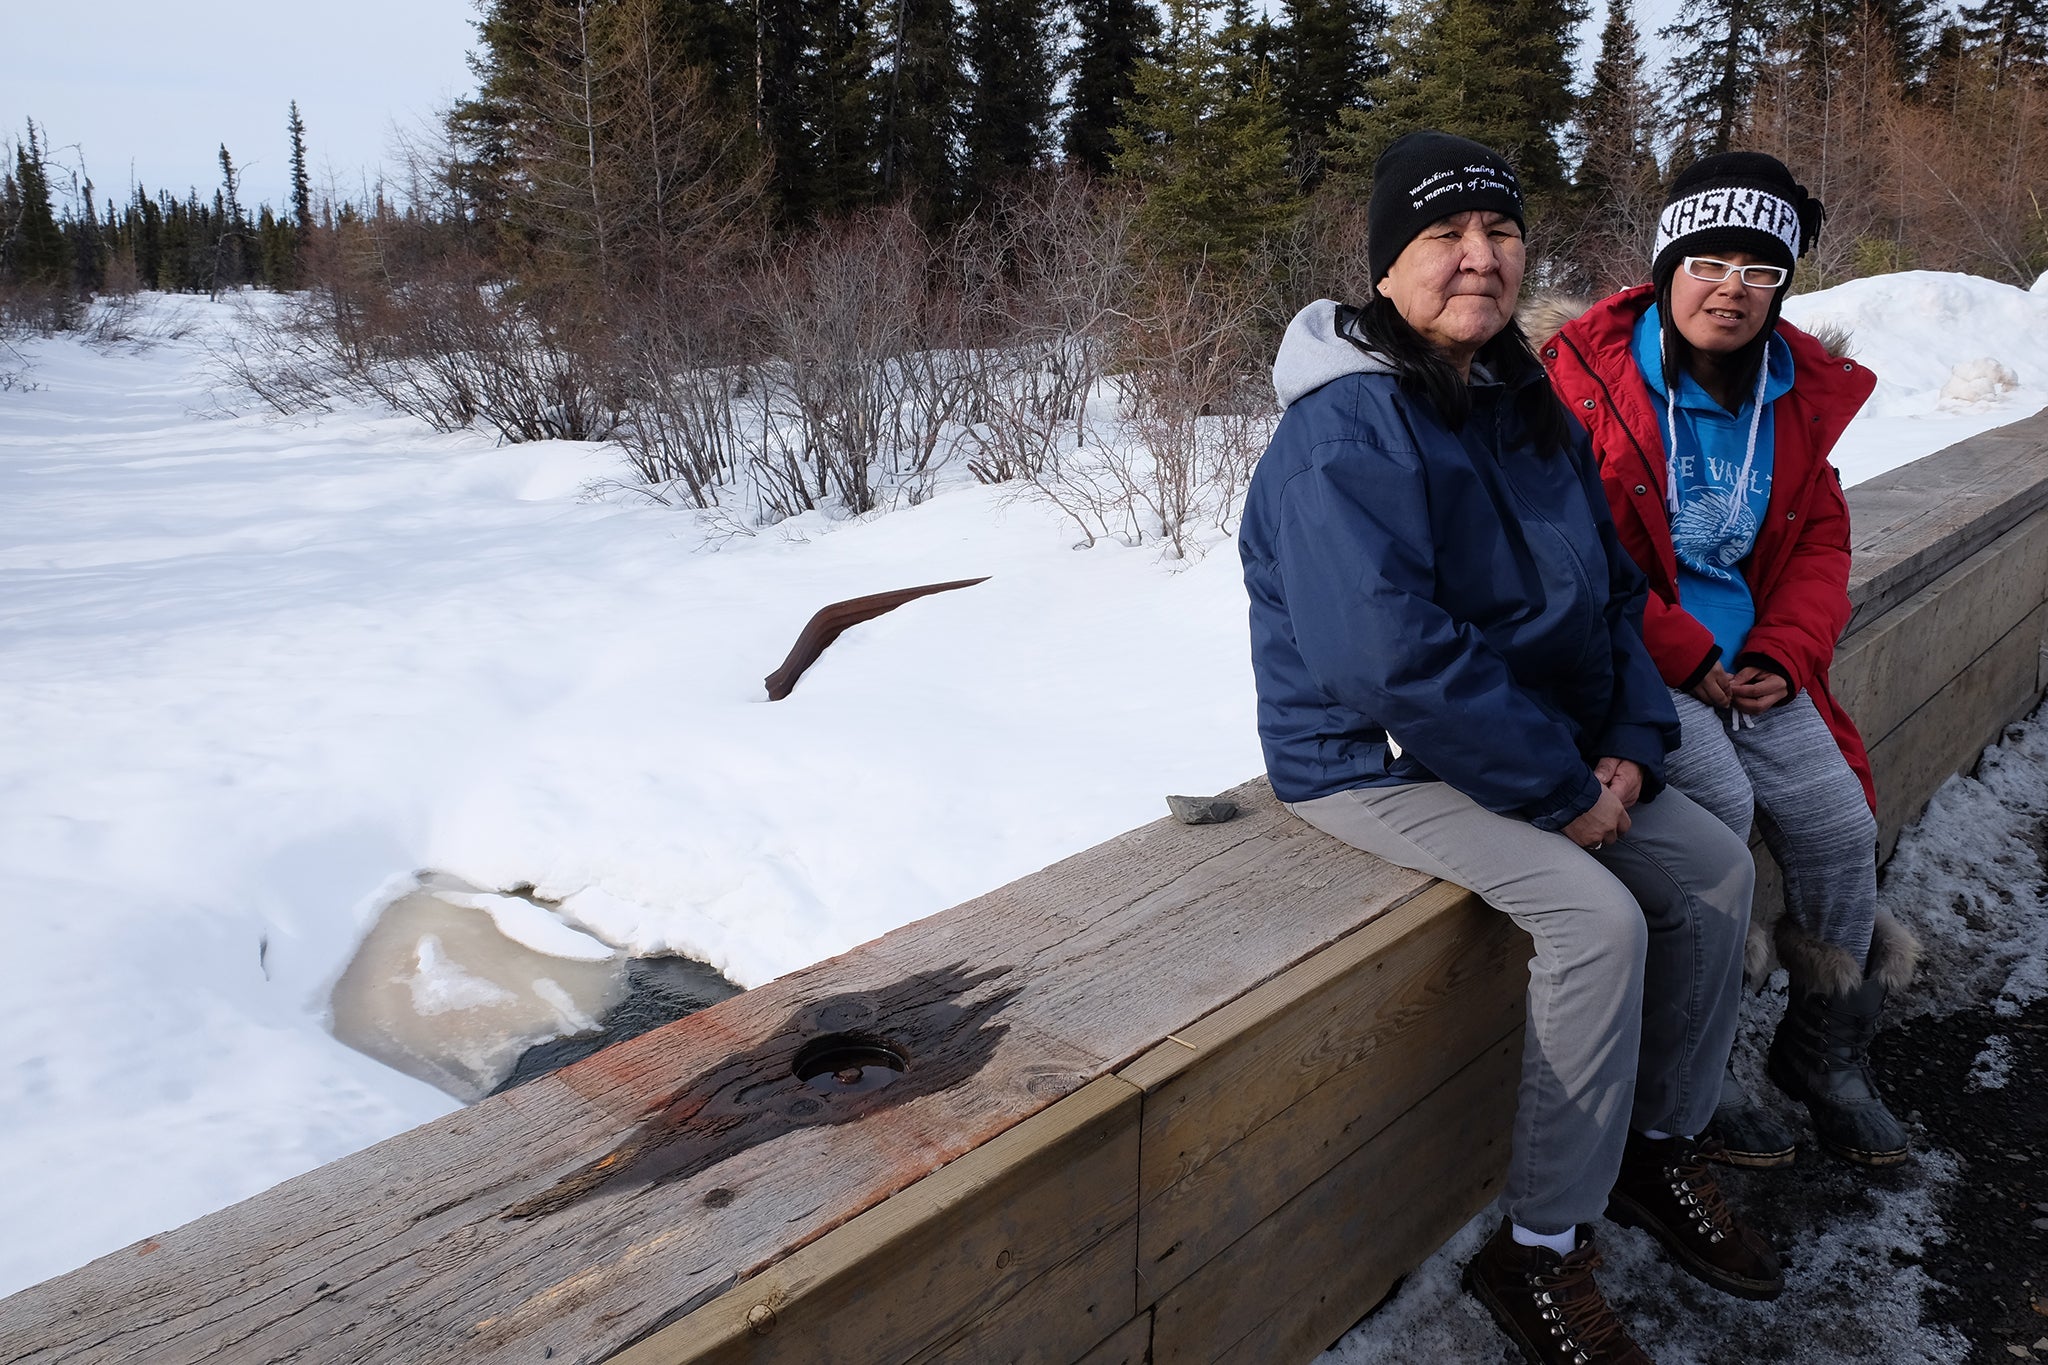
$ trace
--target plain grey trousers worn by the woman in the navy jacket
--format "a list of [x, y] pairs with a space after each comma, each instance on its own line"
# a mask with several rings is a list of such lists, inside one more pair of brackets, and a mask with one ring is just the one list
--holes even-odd
[[1628, 1128], [1698, 1134], [1735, 1042], [1755, 866], [1665, 790], [1597, 853], [1442, 784], [1288, 806], [1327, 835], [1466, 886], [1536, 941], [1501, 1212], [1565, 1232], [1608, 1205]]

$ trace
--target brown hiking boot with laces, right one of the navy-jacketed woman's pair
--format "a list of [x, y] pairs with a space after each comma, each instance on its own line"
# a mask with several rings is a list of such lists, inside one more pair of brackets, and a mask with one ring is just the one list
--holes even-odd
[[1608, 1218], [1655, 1236], [1694, 1279], [1743, 1300], [1776, 1300], [1786, 1287], [1778, 1252], [1735, 1218], [1700, 1148], [1630, 1132]]

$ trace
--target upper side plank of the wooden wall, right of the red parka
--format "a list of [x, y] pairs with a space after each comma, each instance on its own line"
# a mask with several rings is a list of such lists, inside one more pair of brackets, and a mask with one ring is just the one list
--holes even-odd
[[1864, 741], [1882, 743], [2044, 600], [2048, 510], [1849, 636], [1835, 655], [1835, 696]]

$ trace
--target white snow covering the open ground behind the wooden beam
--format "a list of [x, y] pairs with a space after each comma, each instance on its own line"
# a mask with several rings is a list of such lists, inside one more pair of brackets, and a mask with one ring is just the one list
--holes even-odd
[[[563, 968], [756, 984], [1260, 769], [1221, 536], [1077, 553], [965, 473], [750, 530], [590, 493], [606, 446], [266, 417], [205, 350], [233, 307], [143, 311], [158, 344], [27, 342], [0, 385], [0, 1226], [39, 1230], [0, 1293], [455, 1107], [326, 1027], [420, 870], [518, 892], [457, 894]], [[1884, 377], [1851, 481], [2048, 403], [2044, 291], [1788, 307], [1823, 311]], [[1985, 358], [2017, 387], [1942, 397]], [[981, 575], [764, 700], [827, 602]], [[2038, 993], [2028, 962], [1958, 988]], [[434, 966], [418, 990], [473, 990]]]

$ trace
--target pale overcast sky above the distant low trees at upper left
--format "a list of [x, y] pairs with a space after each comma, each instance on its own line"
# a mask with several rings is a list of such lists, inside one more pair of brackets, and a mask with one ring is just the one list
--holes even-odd
[[283, 207], [299, 100], [315, 190], [332, 178], [358, 196], [393, 123], [473, 88], [475, 14], [473, 0], [0, 0], [0, 139], [12, 147], [35, 119], [53, 162], [82, 156], [102, 201], [131, 178], [211, 196], [227, 143], [242, 201]]

